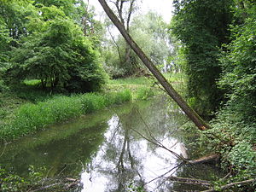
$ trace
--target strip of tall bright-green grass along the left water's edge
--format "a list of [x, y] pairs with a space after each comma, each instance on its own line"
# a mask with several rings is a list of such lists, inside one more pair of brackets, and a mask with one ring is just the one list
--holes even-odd
[[131, 91], [100, 95], [89, 93], [75, 96], [55, 96], [37, 104], [27, 103], [15, 111], [14, 119], [1, 125], [0, 139], [13, 139], [37, 131], [56, 122], [91, 113], [114, 104], [131, 101]]

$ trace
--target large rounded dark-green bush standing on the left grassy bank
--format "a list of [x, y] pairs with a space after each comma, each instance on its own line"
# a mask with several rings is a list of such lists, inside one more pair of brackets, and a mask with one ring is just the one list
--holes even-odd
[[67, 18], [56, 17], [44, 25], [47, 30], [22, 38], [20, 47], [11, 51], [12, 67], [5, 74], [9, 84], [39, 79], [44, 89], [99, 90], [107, 75], [90, 39]]

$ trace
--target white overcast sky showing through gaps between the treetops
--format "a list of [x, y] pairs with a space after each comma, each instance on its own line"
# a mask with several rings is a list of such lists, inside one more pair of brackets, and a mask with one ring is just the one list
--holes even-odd
[[[146, 14], [149, 10], [163, 16], [163, 19], [170, 23], [172, 18], [172, 0], [138, 0], [142, 1], [139, 11]], [[84, 0], [85, 3], [88, 3], [88, 0]], [[89, 0], [89, 4], [93, 5], [96, 8], [96, 14], [101, 17], [103, 9], [98, 0]]]

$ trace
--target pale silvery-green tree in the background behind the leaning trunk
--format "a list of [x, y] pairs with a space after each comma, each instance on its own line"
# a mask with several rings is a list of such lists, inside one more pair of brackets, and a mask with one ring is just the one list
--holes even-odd
[[[127, 3], [131, 3], [129, 1]], [[136, 2], [136, 1], [133, 1]], [[136, 3], [134, 3], [136, 4]], [[135, 15], [136, 5], [132, 5], [131, 15]], [[125, 13], [125, 10], [121, 10]], [[126, 18], [125, 22], [129, 22]], [[137, 44], [150, 56], [155, 65], [161, 66], [171, 55], [171, 49], [166, 44], [168, 36], [166, 34], [166, 22], [161, 15], [148, 12], [146, 15], [136, 15], [131, 22], [127, 23], [127, 30], [136, 40]], [[108, 29], [113, 24], [107, 23]], [[113, 41], [114, 39], [114, 41]], [[113, 79], [126, 78], [134, 74], [142, 75], [148, 73], [143, 66], [143, 62], [136, 53], [126, 44], [125, 39], [119, 35], [108, 39], [102, 49], [105, 69]]]

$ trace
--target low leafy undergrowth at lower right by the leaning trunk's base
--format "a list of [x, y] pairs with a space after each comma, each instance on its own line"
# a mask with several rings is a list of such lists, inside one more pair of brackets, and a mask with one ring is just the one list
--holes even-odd
[[[256, 124], [245, 121], [241, 113], [232, 109], [226, 106], [220, 110], [210, 122], [212, 128], [207, 131], [198, 131], [191, 124], [183, 127], [190, 131], [190, 135], [195, 133], [197, 139], [189, 143], [192, 148], [197, 148], [203, 155], [220, 154], [220, 166], [224, 172], [229, 173], [229, 177], [214, 181], [217, 191], [225, 184], [256, 177]], [[234, 191], [253, 191], [255, 186], [255, 182], [234, 186]]]

